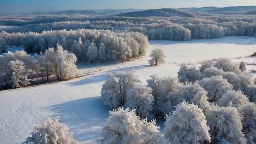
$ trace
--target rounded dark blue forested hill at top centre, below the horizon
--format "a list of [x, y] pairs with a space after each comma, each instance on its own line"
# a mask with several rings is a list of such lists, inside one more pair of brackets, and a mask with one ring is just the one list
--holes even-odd
[[145, 11], [136, 11], [128, 13], [120, 13], [116, 16], [125, 16], [125, 17], [171, 17], [171, 16], [180, 16], [180, 17], [193, 17], [195, 14], [187, 11], [181, 11], [179, 9], [150, 9]]

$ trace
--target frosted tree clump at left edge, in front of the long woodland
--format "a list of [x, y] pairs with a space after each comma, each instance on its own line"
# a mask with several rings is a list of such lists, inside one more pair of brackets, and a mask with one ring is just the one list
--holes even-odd
[[[1, 89], [25, 87], [41, 81], [72, 79], [77, 74], [76, 56], [61, 45], [48, 48], [45, 53], [31, 57], [24, 50], [15, 53], [8, 51], [0, 55]], [[39, 82], [40, 83], [40, 82]]]

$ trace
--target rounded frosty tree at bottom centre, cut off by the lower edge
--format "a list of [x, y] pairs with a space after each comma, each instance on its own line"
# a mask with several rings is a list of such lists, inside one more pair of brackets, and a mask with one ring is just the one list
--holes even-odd
[[140, 144], [142, 143], [141, 122], [136, 116], [135, 109], [115, 109], [109, 111], [110, 116], [103, 125], [102, 144]]

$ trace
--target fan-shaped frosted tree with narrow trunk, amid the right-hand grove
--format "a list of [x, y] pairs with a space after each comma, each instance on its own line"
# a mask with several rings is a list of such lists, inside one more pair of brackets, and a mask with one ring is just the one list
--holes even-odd
[[208, 101], [213, 102], [221, 98], [222, 94], [232, 90], [233, 86], [223, 79], [222, 76], [212, 76], [210, 78], [203, 78], [197, 82], [208, 92]]

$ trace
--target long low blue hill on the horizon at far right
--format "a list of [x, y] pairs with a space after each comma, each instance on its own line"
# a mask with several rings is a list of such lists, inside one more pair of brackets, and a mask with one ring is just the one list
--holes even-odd
[[202, 7], [202, 8], [179, 8], [183, 11], [200, 11], [216, 14], [250, 14], [256, 11], [256, 6], [237, 6], [237, 7]]

